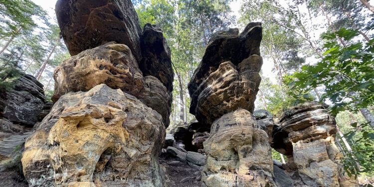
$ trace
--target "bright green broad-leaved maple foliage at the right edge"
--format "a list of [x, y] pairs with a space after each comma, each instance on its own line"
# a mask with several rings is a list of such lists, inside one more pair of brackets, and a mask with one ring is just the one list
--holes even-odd
[[[323, 60], [315, 65], [305, 65], [302, 71], [287, 77], [292, 90], [302, 91], [293, 96], [300, 98], [303, 97], [301, 94], [323, 86], [325, 92], [321, 101], [332, 103], [330, 110], [333, 115], [346, 109], [357, 111], [373, 105], [374, 40], [367, 43], [352, 41], [357, 35], [357, 30], [345, 28], [322, 34], [321, 38], [326, 40]], [[337, 37], [351, 43], [343, 46], [335, 41]]]

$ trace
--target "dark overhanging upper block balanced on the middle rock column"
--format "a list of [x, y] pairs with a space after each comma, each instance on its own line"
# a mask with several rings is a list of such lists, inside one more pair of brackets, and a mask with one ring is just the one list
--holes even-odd
[[[188, 83], [189, 112], [203, 125], [210, 126], [215, 119], [238, 107], [253, 112], [261, 80], [258, 75], [262, 65], [261, 39], [261, 23], [249, 23], [239, 35], [237, 28], [212, 34]], [[226, 64], [221, 66], [222, 63]]]

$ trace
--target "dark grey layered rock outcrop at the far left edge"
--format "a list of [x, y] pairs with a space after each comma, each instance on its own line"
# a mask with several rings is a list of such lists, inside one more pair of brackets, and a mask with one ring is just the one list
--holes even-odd
[[31, 128], [42, 119], [46, 105], [43, 85], [33, 76], [21, 74], [14, 88], [0, 93], [0, 160], [24, 143]]

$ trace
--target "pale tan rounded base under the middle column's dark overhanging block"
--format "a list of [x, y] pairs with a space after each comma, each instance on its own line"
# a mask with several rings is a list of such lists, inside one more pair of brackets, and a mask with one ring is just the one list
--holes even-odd
[[244, 109], [223, 115], [204, 142], [202, 187], [277, 187], [268, 136]]

